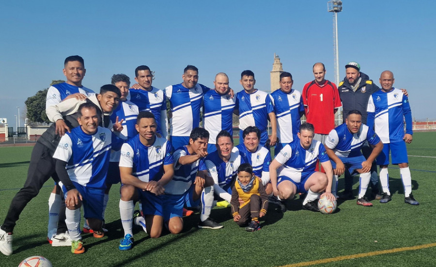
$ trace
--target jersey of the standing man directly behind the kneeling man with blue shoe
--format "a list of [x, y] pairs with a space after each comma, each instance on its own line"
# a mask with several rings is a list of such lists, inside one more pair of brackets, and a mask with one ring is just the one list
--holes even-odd
[[[130, 99], [128, 98], [130, 97]], [[157, 132], [162, 137], [168, 135], [167, 100], [162, 90], [152, 86], [152, 90], [130, 89], [127, 100], [138, 106], [139, 111], [150, 111], [155, 115]]]

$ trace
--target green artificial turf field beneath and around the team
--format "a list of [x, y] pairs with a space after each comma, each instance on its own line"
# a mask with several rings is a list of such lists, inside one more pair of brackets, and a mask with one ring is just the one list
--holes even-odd
[[[185, 218], [179, 235], [150, 239], [134, 228], [134, 248], [119, 251], [123, 238], [119, 219], [119, 190], [112, 187], [106, 225], [101, 239], [82, 234], [86, 252], [75, 255], [70, 247], [51, 247], [47, 240], [48, 196], [53, 181], [24, 209], [14, 230], [14, 253], [0, 254], [0, 267], [18, 266], [29, 256], [41, 255], [53, 266], [436, 266], [436, 132], [415, 133], [407, 145], [412, 189], [419, 206], [404, 203], [397, 166], [389, 166], [392, 201], [363, 207], [356, 200], [338, 201], [336, 213], [301, 210], [296, 197], [288, 211], [277, 213], [270, 204], [262, 229], [250, 233], [239, 228], [230, 208], [214, 208], [211, 217], [224, 225], [218, 230], [198, 229], [199, 214]], [[27, 175], [32, 147], [0, 148], [0, 223]], [[414, 156], [414, 157], [411, 157]], [[357, 195], [358, 177], [354, 178]], [[339, 180], [343, 190], [343, 177]], [[369, 189], [370, 191], [370, 189]], [[83, 220], [82, 220], [83, 224]]]

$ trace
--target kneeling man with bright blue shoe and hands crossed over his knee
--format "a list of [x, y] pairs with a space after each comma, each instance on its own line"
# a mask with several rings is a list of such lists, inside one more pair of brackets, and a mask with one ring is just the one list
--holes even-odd
[[171, 143], [156, 136], [156, 120], [150, 111], [140, 111], [135, 127], [139, 134], [123, 144], [120, 157], [120, 215], [125, 233], [119, 246], [122, 251], [133, 245], [133, 208], [138, 200], [150, 237], [162, 234], [164, 222], [170, 231], [174, 228], [174, 220], [166, 216], [171, 206], [162, 197], [164, 186], [174, 175]]

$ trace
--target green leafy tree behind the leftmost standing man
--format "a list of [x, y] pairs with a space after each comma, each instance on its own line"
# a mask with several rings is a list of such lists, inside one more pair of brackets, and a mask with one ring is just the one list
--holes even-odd
[[[64, 82], [64, 80], [52, 80], [50, 86], [62, 82]], [[27, 100], [24, 102], [27, 109], [27, 118], [31, 122], [50, 123], [46, 114], [47, 91], [48, 88], [40, 90], [35, 95], [27, 98]]]

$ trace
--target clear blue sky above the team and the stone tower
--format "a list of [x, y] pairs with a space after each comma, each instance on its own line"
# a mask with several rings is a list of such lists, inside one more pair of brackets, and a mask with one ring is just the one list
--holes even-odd
[[[339, 61], [357, 61], [377, 85], [389, 69], [409, 92], [413, 117], [436, 119], [435, 1], [343, 0], [338, 16]], [[163, 89], [196, 65], [199, 82], [213, 86], [218, 72], [240, 91], [240, 73], [255, 73], [256, 88], [270, 90], [274, 53], [301, 90], [323, 62], [334, 80], [333, 20], [327, 0], [311, 1], [5, 1], [0, 17], [0, 118], [16, 125], [16, 107], [53, 79], [64, 79], [63, 60], [80, 55], [83, 85], [98, 91], [112, 74], [134, 79], [146, 64]], [[21, 126], [24, 123], [21, 115]]]

